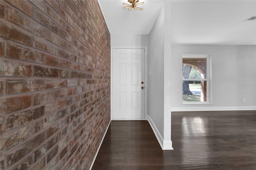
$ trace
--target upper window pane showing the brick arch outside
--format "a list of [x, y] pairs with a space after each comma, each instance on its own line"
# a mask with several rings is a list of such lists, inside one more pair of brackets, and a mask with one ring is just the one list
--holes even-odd
[[183, 79], [197, 79], [194, 78], [200, 74], [200, 79], [207, 79], [206, 77], [206, 58], [183, 58], [182, 59], [182, 76]]

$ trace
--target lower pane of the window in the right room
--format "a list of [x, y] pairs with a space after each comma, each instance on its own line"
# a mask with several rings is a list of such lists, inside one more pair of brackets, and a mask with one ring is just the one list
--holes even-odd
[[207, 101], [207, 81], [183, 81], [183, 101]]

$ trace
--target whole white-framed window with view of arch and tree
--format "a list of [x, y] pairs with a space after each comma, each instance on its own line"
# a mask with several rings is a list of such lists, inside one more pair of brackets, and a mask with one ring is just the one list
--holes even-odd
[[183, 103], [210, 103], [210, 55], [182, 56]]

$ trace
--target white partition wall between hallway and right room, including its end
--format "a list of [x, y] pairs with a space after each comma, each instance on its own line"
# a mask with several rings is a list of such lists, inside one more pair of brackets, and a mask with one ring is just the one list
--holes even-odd
[[164, 3], [149, 34], [148, 121], [162, 149], [171, 141], [170, 3]]

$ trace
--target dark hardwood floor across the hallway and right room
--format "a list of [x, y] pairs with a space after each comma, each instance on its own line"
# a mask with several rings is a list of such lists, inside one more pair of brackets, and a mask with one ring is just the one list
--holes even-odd
[[172, 112], [172, 146], [148, 121], [112, 121], [92, 170], [256, 170], [256, 111]]

